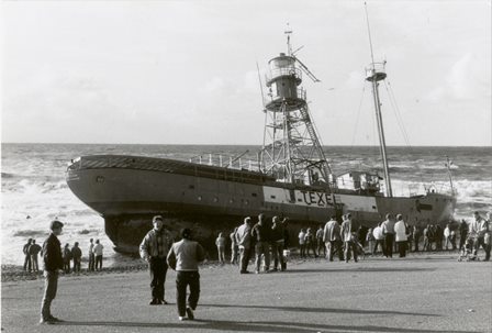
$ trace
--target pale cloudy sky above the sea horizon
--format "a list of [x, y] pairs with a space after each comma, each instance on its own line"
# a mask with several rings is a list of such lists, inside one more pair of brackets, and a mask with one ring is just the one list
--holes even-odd
[[[377, 144], [364, 1], [2, 1], [2, 142], [261, 144], [287, 22], [325, 145]], [[389, 145], [491, 144], [491, 1], [368, 1]], [[390, 90], [395, 106], [384, 98]], [[399, 121], [400, 124], [399, 125]], [[403, 130], [401, 129], [403, 127]]]

